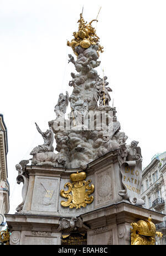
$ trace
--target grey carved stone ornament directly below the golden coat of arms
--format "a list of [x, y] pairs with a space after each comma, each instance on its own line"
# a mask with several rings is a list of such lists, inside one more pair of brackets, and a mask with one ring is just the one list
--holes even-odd
[[77, 228], [82, 228], [82, 220], [81, 218], [72, 217], [71, 219], [62, 218], [60, 225], [58, 227], [58, 231], [70, 228], [71, 230], [77, 230]]

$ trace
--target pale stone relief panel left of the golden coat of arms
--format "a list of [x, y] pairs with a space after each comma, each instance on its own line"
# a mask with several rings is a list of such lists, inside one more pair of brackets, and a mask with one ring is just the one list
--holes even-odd
[[32, 211], [57, 211], [59, 178], [35, 177]]

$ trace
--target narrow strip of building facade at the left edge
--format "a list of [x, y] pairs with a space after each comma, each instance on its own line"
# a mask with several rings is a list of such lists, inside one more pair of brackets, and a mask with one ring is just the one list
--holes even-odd
[[7, 172], [7, 128], [0, 114], [0, 231], [4, 227], [4, 214], [9, 211], [9, 184]]

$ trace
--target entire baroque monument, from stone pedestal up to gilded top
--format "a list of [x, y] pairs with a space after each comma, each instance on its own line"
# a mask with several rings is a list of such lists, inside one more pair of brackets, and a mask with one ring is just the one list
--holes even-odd
[[150, 214], [162, 221], [143, 208], [141, 147], [127, 144], [108, 78], [98, 75], [103, 47], [93, 22], [80, 14], [68, 41], [72, 93], [60, 93], [46, 131], [35, 123], [43, 142], [16, 165], [23, 201], [7, 215], [11, 244], [61, 244], [62, 235], [75, 232], [86, 233], [87, 244], [129, 244], [131, 223]]

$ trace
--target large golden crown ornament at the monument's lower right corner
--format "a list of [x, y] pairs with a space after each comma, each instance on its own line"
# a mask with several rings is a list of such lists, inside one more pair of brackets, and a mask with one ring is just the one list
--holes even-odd
[[156, 232], [151, 216], [148, 220], [138, 220], [131, 225], [131, 245], [154, 245], [155, 235], [162, 238], [163, 234]]

